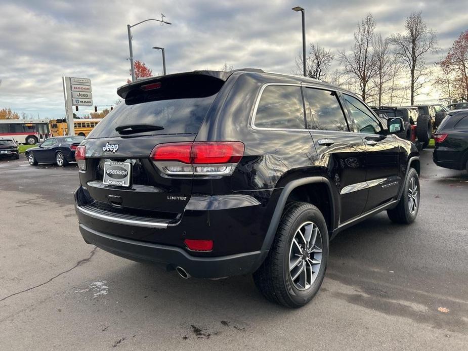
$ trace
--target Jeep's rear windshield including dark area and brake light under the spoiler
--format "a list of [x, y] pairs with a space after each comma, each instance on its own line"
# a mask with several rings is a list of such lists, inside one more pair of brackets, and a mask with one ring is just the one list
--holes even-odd
[[126, 91], [125, 100], [94, 127], [88, 139], [120, 137], [116, 127], [135, 124], [161, 129], [141, 130], [130, 137], [198, 133], [223, 84], [223, 80], [212, 76], [176, 75], [124, 86], [121, 91]]

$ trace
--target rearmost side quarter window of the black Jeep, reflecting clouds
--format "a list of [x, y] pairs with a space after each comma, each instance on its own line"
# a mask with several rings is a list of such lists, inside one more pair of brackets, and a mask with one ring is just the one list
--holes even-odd
[[265, 87], [254, 125], [259, 128], [305, 129], [301, 87], [290, 85]]

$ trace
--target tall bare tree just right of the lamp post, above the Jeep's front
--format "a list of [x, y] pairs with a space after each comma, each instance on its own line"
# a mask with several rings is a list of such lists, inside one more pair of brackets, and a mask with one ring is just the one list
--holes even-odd
[[372, 41], [374, 38], [375, 21], [368, 14], [358, 24], [354, 32], [354, 45], [350, 52], [338, 51], [338, 59], [345, 66], [343, 73], [357, 82], [362, 100], [369, 98], [372, 79], [376, 74], [376, 60]]

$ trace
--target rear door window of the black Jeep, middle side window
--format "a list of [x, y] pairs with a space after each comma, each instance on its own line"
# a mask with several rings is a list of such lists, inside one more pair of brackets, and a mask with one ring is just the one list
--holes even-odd
[[348, 131], [343, 110], [335, 92], [306, 88], [312, 114], [312, 129]]

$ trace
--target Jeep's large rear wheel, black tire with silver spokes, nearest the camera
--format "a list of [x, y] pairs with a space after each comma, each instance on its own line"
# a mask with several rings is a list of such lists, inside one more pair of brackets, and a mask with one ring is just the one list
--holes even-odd
[[[309, 247], [307, 243], [304, 244], [304, 248], [300, 248], [301, 244], [294, 245], [296, 242], [293, 239], [299, 237], [298, 230], [305, 228], [304, 234], [307, 234], [306, 227], [310, 224], [315, 225], [318, 229], [315, 235], [316, 241], [312, 247]], [[315, 227], [312, 226], [312, 228]], [[307, 235], [303, 236], [303, 238], [305, 237]], [[312, 237], [313, 235], [309, 236], [310, 242], [313, 240]], [[320, 245], [321, 248], [319, 248]], [[297, 265], [292, 264], [293, 268], [290, 270], [290, 255], [293, 254], [294, 250], [299, 251], [299, 249], [303, 250], [303, 254], [293, 255], [294, 259], [297, 258], [297, 262], [295, 262]], [[321, 249], [321, 252], [316, 251], [318, 249]], [[310, 253], [312, 257], [308, 256], [306, 250], [307, 252], [312, 250]], [[253, 273], [253, 280], [268, 300], [289, 308], [299, 308], [307, 304], [318, 292], [325, 276], [327, 259], [328, 231], [322, 213], [310, 203], [293, 202], [285, 208], [270, 252], [262, 266]], [[314, 261], [320, 261], [318, 268]], [[312, 262], [312, 265], [307, 266], [307, 262]], [[307, 269], [304, 270], [304, 267]], [[313, 267], [318, 271], [312, 271]], [[309, 286], [304, 284], [303, 289], [297, 287], [300, 285], [303, 275], [299, 274], [297, 277], [299, 280], [293, 280], [292, 274], [296, 273], [291, 273], [295, 272], [295, 269], [301, 270], [301, 268], [301, 272], [305, 274], [305, 281], [307, 281], [307, 272], [310, 273], [310, 284]]]

